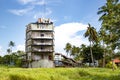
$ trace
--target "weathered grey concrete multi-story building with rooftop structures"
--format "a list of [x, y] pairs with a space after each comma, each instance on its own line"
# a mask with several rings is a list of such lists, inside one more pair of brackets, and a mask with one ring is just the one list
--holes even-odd
[[28, 67], [54, 67], [54, 26], [49, 19], [39, 18], [26, 28]]

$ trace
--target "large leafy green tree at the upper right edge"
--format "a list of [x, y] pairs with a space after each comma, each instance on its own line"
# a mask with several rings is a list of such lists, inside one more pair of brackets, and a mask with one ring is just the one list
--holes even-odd
[[98, 14], [102, 14], [99, 18], [102, 21], [102, 28], [110, 34], [108, 43], [113, 55], [113, 50], [120, 49], [120, 3], [119, 0], [106, 1], [106, 4], [99, 8]]

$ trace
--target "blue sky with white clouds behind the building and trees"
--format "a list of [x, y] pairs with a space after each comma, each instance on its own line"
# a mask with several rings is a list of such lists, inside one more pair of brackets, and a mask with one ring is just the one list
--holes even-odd
[[26, 25], [38, 18], [54, 23], [55, 52], [65, 54], [67, 42], [75, 46], [89, 45], [84, 38], [88, 23], [100, 28], [98, 8], [106, 0], [0, 0], [0, 56], [7, 54], [10, 41], [13, 51], [25, 51]]

